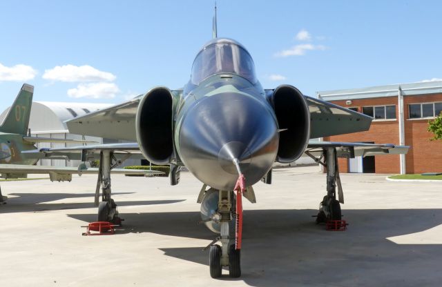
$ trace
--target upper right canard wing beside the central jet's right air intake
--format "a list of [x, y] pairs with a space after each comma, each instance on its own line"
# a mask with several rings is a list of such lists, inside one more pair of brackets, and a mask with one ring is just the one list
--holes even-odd
[[363, 132], [370, 128], [372, 117], [305, 96], [310, 112], [310, 139]]

